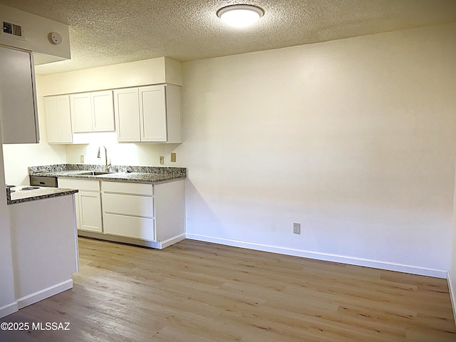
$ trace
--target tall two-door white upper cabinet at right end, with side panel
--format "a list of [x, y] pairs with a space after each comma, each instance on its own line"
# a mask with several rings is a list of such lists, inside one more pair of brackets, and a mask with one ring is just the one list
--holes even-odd
[[119, 142], [182, 142], [179, 86], [114, 90], [114, 107]]

